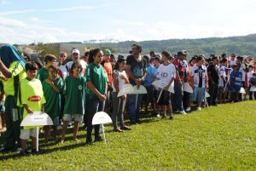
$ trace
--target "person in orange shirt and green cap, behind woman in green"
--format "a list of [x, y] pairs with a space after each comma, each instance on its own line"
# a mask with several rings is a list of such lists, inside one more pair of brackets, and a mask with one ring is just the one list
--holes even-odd
[[108, 91], [107, 91], [107, 99], [105, 101], [105, 111], [108, 112], [110, 110], [113, 70], [112, 70], [112, 64], [110, 62], [111, 51], [109, 49], [104, 49], [102, 52], [103, 52], [102, 66], [104, 67], [104, 70], [107, 72], [107, 75], [108, 75]]

